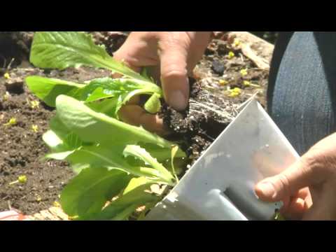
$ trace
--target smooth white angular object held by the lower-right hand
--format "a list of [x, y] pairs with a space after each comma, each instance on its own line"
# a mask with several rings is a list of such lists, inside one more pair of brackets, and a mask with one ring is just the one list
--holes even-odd
[[266, 203], [256, 183], [299, 157], [262, 106], [252, 99], [146, 221], [268, 221], [281, 202]]

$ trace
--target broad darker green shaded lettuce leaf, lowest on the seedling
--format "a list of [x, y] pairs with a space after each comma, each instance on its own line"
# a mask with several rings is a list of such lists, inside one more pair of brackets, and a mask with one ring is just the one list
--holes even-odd
[[84, 169], [62, 191], [62, 209], [69, 216], [97, 213], [107, 200], [127, 186], [130, 179], [132, 176], [117, 169]]

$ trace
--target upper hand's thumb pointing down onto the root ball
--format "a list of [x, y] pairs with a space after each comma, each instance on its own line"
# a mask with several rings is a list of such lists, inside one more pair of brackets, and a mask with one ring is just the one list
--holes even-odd
[[174, 109], [183, 111], [189, 100], [187, 49], [180, 44], [170, 44], [169, 47], [162, 45], [159, 55], [165, 100]]

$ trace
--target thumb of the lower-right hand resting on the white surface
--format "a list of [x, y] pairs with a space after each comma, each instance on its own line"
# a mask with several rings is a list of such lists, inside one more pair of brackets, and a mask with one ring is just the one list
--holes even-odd
[[286, 201], [300, 189], [314, 185], [315, 176], [314, 169], [301, 159], [281, 174], [258, 183], [255, 193], [266, 202]]

